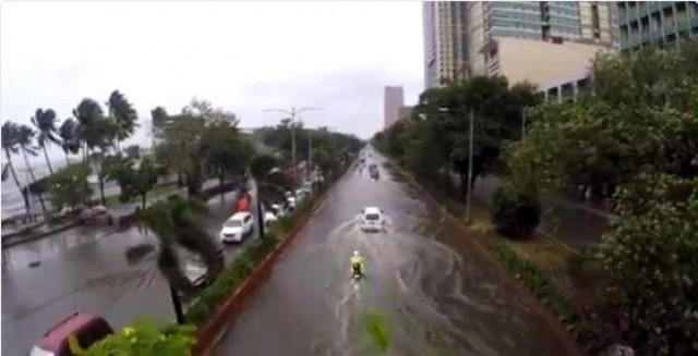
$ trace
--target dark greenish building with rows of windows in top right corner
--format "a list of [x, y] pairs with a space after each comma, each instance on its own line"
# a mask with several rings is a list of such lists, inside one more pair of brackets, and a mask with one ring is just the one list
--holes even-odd
[[698, 35], [696, 1], [619, 1], [621, 49], [677, 46]]

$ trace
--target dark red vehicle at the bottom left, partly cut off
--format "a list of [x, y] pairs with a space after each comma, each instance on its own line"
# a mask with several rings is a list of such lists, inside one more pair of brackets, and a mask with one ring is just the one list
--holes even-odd
[[80, 346], [86, 348], [112, 333], [111, 326], [104, 318], [75, 312], [49, 329], [28, 355], [72, 356], [68, 336], [75, 335]]

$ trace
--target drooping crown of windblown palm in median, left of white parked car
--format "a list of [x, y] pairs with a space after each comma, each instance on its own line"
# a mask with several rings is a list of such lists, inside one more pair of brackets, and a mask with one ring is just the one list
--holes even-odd
[[183, 199], [178, 195], [171, 195], [167, 200], [156, 202], [139, 213], [140, 225], [153, 232], [160, 245], [158, 269], [177, 291], [193, 291], [183, 272], [182, 261], [177, 253], [178, 247], [201, 257], [209, 280], [214, 280], [222, 270], [224, 261], [218, 255], [218, 247], [202, 224], [206, 213], [207, 207], [204, 202], [195, 198]]

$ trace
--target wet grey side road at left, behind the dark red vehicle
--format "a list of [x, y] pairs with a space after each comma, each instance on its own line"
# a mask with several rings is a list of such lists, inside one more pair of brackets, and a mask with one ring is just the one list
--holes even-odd
[[[209, 200], [212, 216], [205, 223], [216, 236], [234, 194], [224, 198]], [[155, 237], [136, 228], [85, 228], [3, 250], [2, 355], [25, 355], [46, 330], [74, 311], [104, 316], [117, 328], [141, 317], [173, 320], [155, 254], [134, 263], [125, 258], [127, 248], [144, 243]], [[226, 246], [226, 260], [241, 248]], [[31, 261], [40, 265], [29, 268]]]

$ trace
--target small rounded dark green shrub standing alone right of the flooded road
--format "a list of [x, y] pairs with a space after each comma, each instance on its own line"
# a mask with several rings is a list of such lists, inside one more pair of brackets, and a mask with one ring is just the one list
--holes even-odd
[[504, 185], [492, 197], [492, 222], [507, 237], [528, 237], [541, 221], [541, 202], [537, 194], [517, 192]]

